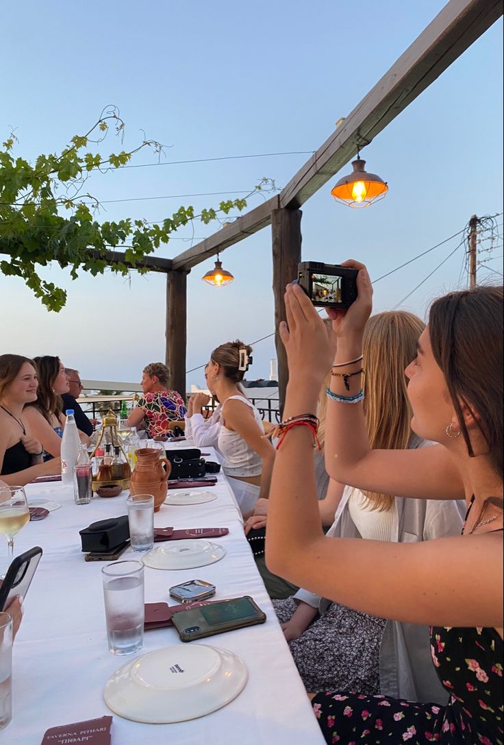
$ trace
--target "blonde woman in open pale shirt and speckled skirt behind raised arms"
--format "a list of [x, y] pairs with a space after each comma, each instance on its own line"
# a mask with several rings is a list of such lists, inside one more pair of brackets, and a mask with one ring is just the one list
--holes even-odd
[[[411, 431], [404, 375], [423, 330], [424, 323], [405, 311], [380, 313], [366, 324], [363, 408], [372, 448], [427, 444]], [[325, 390], [324, 396], [327, 401]], [[331, 505], [338, 509], [328, 536], [418, 542], [462, 530], [463, 501], [413, 501], [335, 487], [332, 491], [339, 492], [339, 504]], [[430, 660], [427, 626], [386, 621], [306, 590], [287, 600], [273, 600], [273, 606], [308, 691], [348, 688], [363, 694], [446, 701]]]

